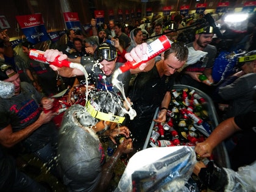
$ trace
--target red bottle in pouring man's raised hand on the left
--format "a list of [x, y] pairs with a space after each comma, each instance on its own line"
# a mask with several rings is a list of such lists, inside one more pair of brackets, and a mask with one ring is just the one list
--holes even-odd
[[72, 63], [72, 62], [69, 62], [68, 60], [59, 61], [58, 60], [59, 57], [60, 56], [56, 57], [53, 62], [48, 62], [46, 60], [46, 58], [44, 57], [44, 51], [40, 51], [37, 49], [30, 49], [30, 51], [29, 51], [29, 58], [32, 60], [36, 60], [38, 62], [51, 64], [51, 65], [58, 66], [58, 67], [66, 66], [66, 67], [70, 67], [70, 68], [74, 68], [74, 65], [77, 65], [77, 63]]

